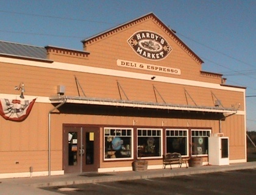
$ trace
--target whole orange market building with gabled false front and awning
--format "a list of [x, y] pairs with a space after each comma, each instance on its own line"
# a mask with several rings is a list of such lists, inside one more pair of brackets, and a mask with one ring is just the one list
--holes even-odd
[[167, 152], [211, 165], [210, 137], [246, 162], [246, 88], [203, 71], [154, 13], [82, 46], [0, 41], [0, 178], [161, 169]]

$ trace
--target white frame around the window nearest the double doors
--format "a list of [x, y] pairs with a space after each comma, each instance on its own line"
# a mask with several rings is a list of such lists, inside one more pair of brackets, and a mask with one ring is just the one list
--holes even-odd
[[[106, 135], [105, 133], [105, 130], [115, 130], [115, 135], [110, 135], [110, 132], [109, 132], [109, 135]], [[130, 130], [131, 134], [130, 135], [118, 135], [118, 131], [119, 130]], [[133, 159], [133, 128], [131, 127], [104, 127], [103, 129], [103, 133], [104, 133], [104, 141], [103, 141], [103, 150], [104, 150], [104, 161], [120, 161], [120, 160], [132, 160]], [[129, 137], [130, 138], [130, 157], [127, 157], [127, 158], [105, 158], [105, 137], [112, 137], [112, 138], [115, 138], [115, 137]]]

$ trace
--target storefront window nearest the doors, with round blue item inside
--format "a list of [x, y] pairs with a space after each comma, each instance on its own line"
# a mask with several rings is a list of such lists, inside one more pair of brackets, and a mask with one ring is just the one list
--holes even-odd
[[104, 128], [104, 160], [132, 158], [132, 130], [130, 128]]

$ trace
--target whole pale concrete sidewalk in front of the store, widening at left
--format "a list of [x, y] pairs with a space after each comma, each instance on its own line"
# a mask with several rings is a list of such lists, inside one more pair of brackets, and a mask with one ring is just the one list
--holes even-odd
[[210, 172], [233, 171], [240, 169], [256, 169], [256, 161], [236, 163], [227, 166], [201, 166], [194, 168], [154, 169], [147, 171], [107, 172], [65, 174], [64, 176], [44, 176], [32, 178], [0, 179], [0, 194], [59, 194], [39, 188], [47, 186], [63, 186], [80, 183], [115, 182], [120, 180], [149, 179], [154, 177], [173, 177]]

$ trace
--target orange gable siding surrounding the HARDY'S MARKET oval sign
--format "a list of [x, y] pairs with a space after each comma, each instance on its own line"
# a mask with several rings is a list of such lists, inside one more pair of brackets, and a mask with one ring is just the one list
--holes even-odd
[[[138, 30], [151, 29], [151, 31], [156, 32], [157, 34], [165, 37], [166, 41], [171, 45], [172, 51], [168, 55], [168, 57], [164, 60], [160, 61], [152, 61], [141, 58], [135, 52], [133, 52], [132, 48], [130, 48], [127, 40], [134, 32]], [[155, 26], [155, 23], [151, 20], [145, 21], [143, 24], [138, 26], [133, 26], [132, 28], [127, 28], [124, 30], [120, 30], [115, 35], [110, 35], [109, 37], [102, 38], [97, 42], [87, 44], [87, 51], [91, 54], [88, 56], [90, 59], [90, 66], [104, 67], [110, 69], [122, 69], [116, 66], [116, 60], [130, 60], [133, 62], [140, 63], [149, 63], [154, 65], [162, 65], [172, 68], [180, 68], [182, 71], [181, 76], [171, 76], [171, 77], [179, 77], [179, 78], [187, 78], [187, 79], [197, 79], [199, 76], [199, 70], [201, 69], [201, 65], [195, 62], [194, 59], [190, 57], [177, 43], [172, 40], [172, 38], [168, 37], [163, 30]], [[121, 43], [121, 44], [120, 44]], [[104, 59], [104, 60], [103, 60]], [[193, 68], [191, 68], [193, 67]], [[129, 70], [135, 71], [135, 70]], [[137, 72], [138, 70], [136, 70]], [[142, 71], [146, 73], [146, 71]], [[164, 75], [161, 73], [155, 73], [156, 75]]]

